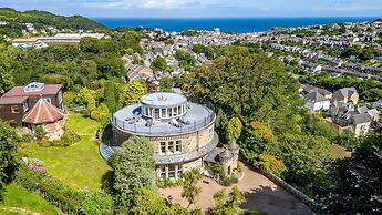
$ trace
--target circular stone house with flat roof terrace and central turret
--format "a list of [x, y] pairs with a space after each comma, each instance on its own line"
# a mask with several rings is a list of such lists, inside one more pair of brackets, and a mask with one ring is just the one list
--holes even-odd
[[[203, 171], [205, 156], [218, 144], [215, 119], [213, 110], [188, 102], [184, 95], [151, 93], [112, 116], [112, 141], [117, 146], [132, 135], [148, 139], [157, 176], [177, 180], [183, 172]], [[107, 158], [107, 151], [103, 156]]]

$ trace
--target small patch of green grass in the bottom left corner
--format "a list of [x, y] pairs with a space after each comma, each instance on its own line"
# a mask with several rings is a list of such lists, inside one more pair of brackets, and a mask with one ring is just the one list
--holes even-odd
[[[17, 208], [19, 212], [14, 212], [10, 207]], [[38, 194], [16, 184], [6, 187], [3, 202], [0, 203], [0, 214], [32, 214], [33, 212], [49, 215], [59, 214], [59, 209], [54, 205], [48, 203]]]

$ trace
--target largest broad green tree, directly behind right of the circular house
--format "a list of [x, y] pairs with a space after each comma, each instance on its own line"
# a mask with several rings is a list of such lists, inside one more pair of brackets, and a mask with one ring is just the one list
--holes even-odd
[[235, 115], [266, 122], [276, 132], [299, 127], [297, 82], [277, 58], [238, 49], [197, 68], [186, 82], [185, 90], [192, 98], [216, 106], [220, 134]]

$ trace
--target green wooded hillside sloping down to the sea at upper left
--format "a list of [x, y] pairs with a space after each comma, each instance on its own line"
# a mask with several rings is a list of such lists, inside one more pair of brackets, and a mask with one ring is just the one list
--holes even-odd
[[0, 8], [0, 21], [8, 22], [7, 25], [0, 28], [0, 32], [4, 32], [4, 34], [8, 35], [10, 32], [13, 32], [16, 35], [20, 35], [21, 29], [23, 28], [22, 23], [33, 23], [35, 29], [44, 29], [50, 25], [55, 27], [56, 29], [70, 30], [94, 30], [106, 28], [81, 16], [64, 17], [38, 10], [21, 12], [10, 8]]

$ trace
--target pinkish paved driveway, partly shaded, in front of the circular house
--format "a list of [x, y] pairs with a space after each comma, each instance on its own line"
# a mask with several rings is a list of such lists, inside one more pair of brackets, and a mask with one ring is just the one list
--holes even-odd
[[[247, 203], [242, 204], [244, 209], [256, 209], [268, 215], [308, 215], [313, 214], [312, 211], [302, 204], [295, 196], [276, 185], [266, 176], [249, 170], [240, 163], [244, 176], [238, 184], [235, 184], [244, 193]], [[200, 180], [198, 185], [202, 193], [197, 197], [195, 205], [190, 208], [200, 208], [207, 211], [214, 206], [213, 195], [216, 191], [224, 188], [228, 193], [231, 187], [224, 187], [216, 182], [206, 184]], [[173, 202], [187, 207], [188, 202], [182, 198], [182, 187], [171, 187], [161, 190], [161, 195], [167, 197], [173, 196]]]

